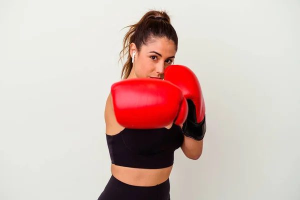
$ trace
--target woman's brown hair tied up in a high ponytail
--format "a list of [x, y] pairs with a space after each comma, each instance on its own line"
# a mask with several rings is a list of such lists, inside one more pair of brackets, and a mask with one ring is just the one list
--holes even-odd
[[128, 77], [132, 68], [132, 57], [129, 53], [130, 43], [133, 42], [137, 50], [140, 50], [141, 45], [146, 44], [149, 39], [166, 37], [174, 42], [175, 50], [177, 51], [177, 33], [171, 25], [170, 17], [166, 11], [150, 10], [137, 23], [126, 27], [130, 28], [123, 38], [123, 49], [119, 53], [120, 59], [128, 53], [127, 60], [122, 67], [121, 77], [123, 78]]

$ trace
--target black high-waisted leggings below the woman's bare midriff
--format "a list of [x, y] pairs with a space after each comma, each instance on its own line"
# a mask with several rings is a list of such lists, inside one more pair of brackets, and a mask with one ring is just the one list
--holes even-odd
[[170, 200], [169, 179], [155, 186], [134, 186], [111, 175], [98, 200]]

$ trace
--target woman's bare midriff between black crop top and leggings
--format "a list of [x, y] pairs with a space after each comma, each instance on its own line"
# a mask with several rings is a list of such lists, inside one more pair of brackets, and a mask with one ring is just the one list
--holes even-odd
[[143, 169], [118, 166], [111, 164], [112, 175], [130, 185], [154, 186], [167, 180], [172, 170], [172, 166], [160, 169]]

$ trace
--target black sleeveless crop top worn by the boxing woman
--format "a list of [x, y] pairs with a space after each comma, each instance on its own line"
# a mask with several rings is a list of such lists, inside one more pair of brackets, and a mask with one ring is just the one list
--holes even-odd
[[174, 151], [183, 142], [180, 126], [171, 128], [130, 129], [107, 135], [111, 163], [134, 168], [164, 168], [174, 161]]

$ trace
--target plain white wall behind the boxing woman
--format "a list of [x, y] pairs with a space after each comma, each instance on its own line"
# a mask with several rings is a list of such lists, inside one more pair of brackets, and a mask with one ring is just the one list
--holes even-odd
[[300, 199], [298, 0], [0, 1], [0, 199], [97, 199], [121, 28], [148, 9], [169, 12], [207, 110], [171, 199]]

